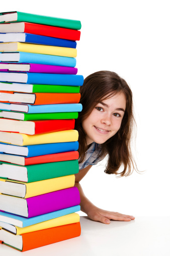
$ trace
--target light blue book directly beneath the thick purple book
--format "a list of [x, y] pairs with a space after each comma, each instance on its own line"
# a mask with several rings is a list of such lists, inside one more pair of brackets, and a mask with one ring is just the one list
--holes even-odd
[[30, 225], [34, 225], [36, 223], [52, 220], [52, 219], [55, 219], [55, 218], [58, 218], [58, 217], [61, 217], [61, 216], [67, 215], [67, 214], [75, 213], [78, 211], [80, 211], [80, 206], [73, 206], [73, 207], [65, 208], [65, 209], [62, 209], [59, 211], [39, 215], [39, 216], [28, 218], [28, 219], [14, 215], [14, 214], [8, 214], [8, 213], [4, 213], [4, 212], [0, 211], [0, 222], [1, 221], [6, 222], [11, 225], [15, 225], [15, 226], [24, 228], [24, 227], [28, 227]]

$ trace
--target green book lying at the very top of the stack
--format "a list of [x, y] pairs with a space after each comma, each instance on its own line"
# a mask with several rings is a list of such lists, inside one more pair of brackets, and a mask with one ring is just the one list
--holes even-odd
[[4, 22], [31, 22], [31, 23], [56, 26], [61, 28], [75, 29], [75, 30], [78, 30], [81, 28], [81, 22], [78, 20], [68, 20], [68, 19], [55, 18], [50, 16], [16, 12], [16, 11], [0, 13], [0, 23], [4, 23]]

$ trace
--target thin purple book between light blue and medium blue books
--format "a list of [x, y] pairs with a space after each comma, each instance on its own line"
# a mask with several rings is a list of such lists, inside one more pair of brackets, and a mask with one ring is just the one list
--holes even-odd
[[0, 72], [31, 72], [76, 75], [77, 68], [33, 63], [0, 63]]

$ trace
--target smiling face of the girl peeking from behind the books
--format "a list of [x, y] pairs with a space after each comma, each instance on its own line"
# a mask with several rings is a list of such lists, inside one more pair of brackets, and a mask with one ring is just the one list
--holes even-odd
[[102, 144], [114, 136], [120, 129], [125, 109], [126, 97], [122, 92], [101, 100], [90, 116], [82, 121], [87, 144], [94, 141]]

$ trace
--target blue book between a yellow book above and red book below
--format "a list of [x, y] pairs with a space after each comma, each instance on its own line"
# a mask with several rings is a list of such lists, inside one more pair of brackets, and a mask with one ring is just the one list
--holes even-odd
[[37, 144], [29, 146], [16, 146], [7, 143], [0, 143], [0, 152], [10, 155], [18, 155], [26, 158], [51, 155], [54, 153], [69, 152], [78, 150], [78, 141], [59, 142], [48, 144]]

